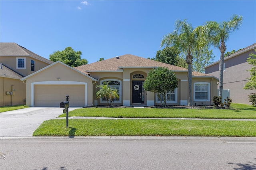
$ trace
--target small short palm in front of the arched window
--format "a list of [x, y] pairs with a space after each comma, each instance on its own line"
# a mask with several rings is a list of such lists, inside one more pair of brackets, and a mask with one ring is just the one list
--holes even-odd
[[[108, 102], [108, 105], [112, 105], [112, 102], [114, 101], [114, 99], [119, 98], [118, 90], [108, 86], [108, 83], [96, 86], [96, 88], [100, 88], [96, 92], [96, 97], [97, 97], [97, 99], [102, 97], [103, 99], [106, 99], [106, 101]], [[110, 103], [109, 103], [109, 101], [110, 101]]]

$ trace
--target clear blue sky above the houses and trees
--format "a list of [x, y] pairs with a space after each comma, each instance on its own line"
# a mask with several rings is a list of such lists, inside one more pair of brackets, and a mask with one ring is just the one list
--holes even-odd
[[[233, 32], [226, 51], [256, 42], [256, 1], [0, 1], [0, 42], [15, 42], [49, 58], [54, 51], [72, 47], [93, 63], [132, 54], [155, 57], [164, 35], [174, 30], [177, 19], [192, 26], [206, 21], [227, 21], [233, 14], [244, 17]], [[220, 51], [213, 48], [220, 58]]]

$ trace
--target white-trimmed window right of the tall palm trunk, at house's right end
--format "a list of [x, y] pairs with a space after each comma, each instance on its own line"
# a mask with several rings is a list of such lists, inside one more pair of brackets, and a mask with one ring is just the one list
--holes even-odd
[[194, 101], [210, 101], [210, 83], [194, 83]]

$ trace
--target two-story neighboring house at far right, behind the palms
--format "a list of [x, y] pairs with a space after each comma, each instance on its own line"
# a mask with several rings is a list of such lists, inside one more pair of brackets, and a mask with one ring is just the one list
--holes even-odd
[[[256, 93], [255, 90], [243, 89], [250, 78], [248, 70], [252, 67], [246, 60], [250, 57], [250, 53], [255, 53], [255, 49], [256, 43], [224, 58], [223, 89], [230, 89], [230, 98], [233, 103], [250, 104], [248, 95]], [[219, 77], [219, 63], [220, 61], [216, 61], [204, 67], [205, 73]]]

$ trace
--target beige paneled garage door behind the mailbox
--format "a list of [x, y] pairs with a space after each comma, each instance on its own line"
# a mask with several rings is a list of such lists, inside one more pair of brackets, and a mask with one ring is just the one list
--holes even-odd
[[69, 95], [70, 107], [85, 106], [85, 85], [35, 85], [35, 106], [60, 107]]

